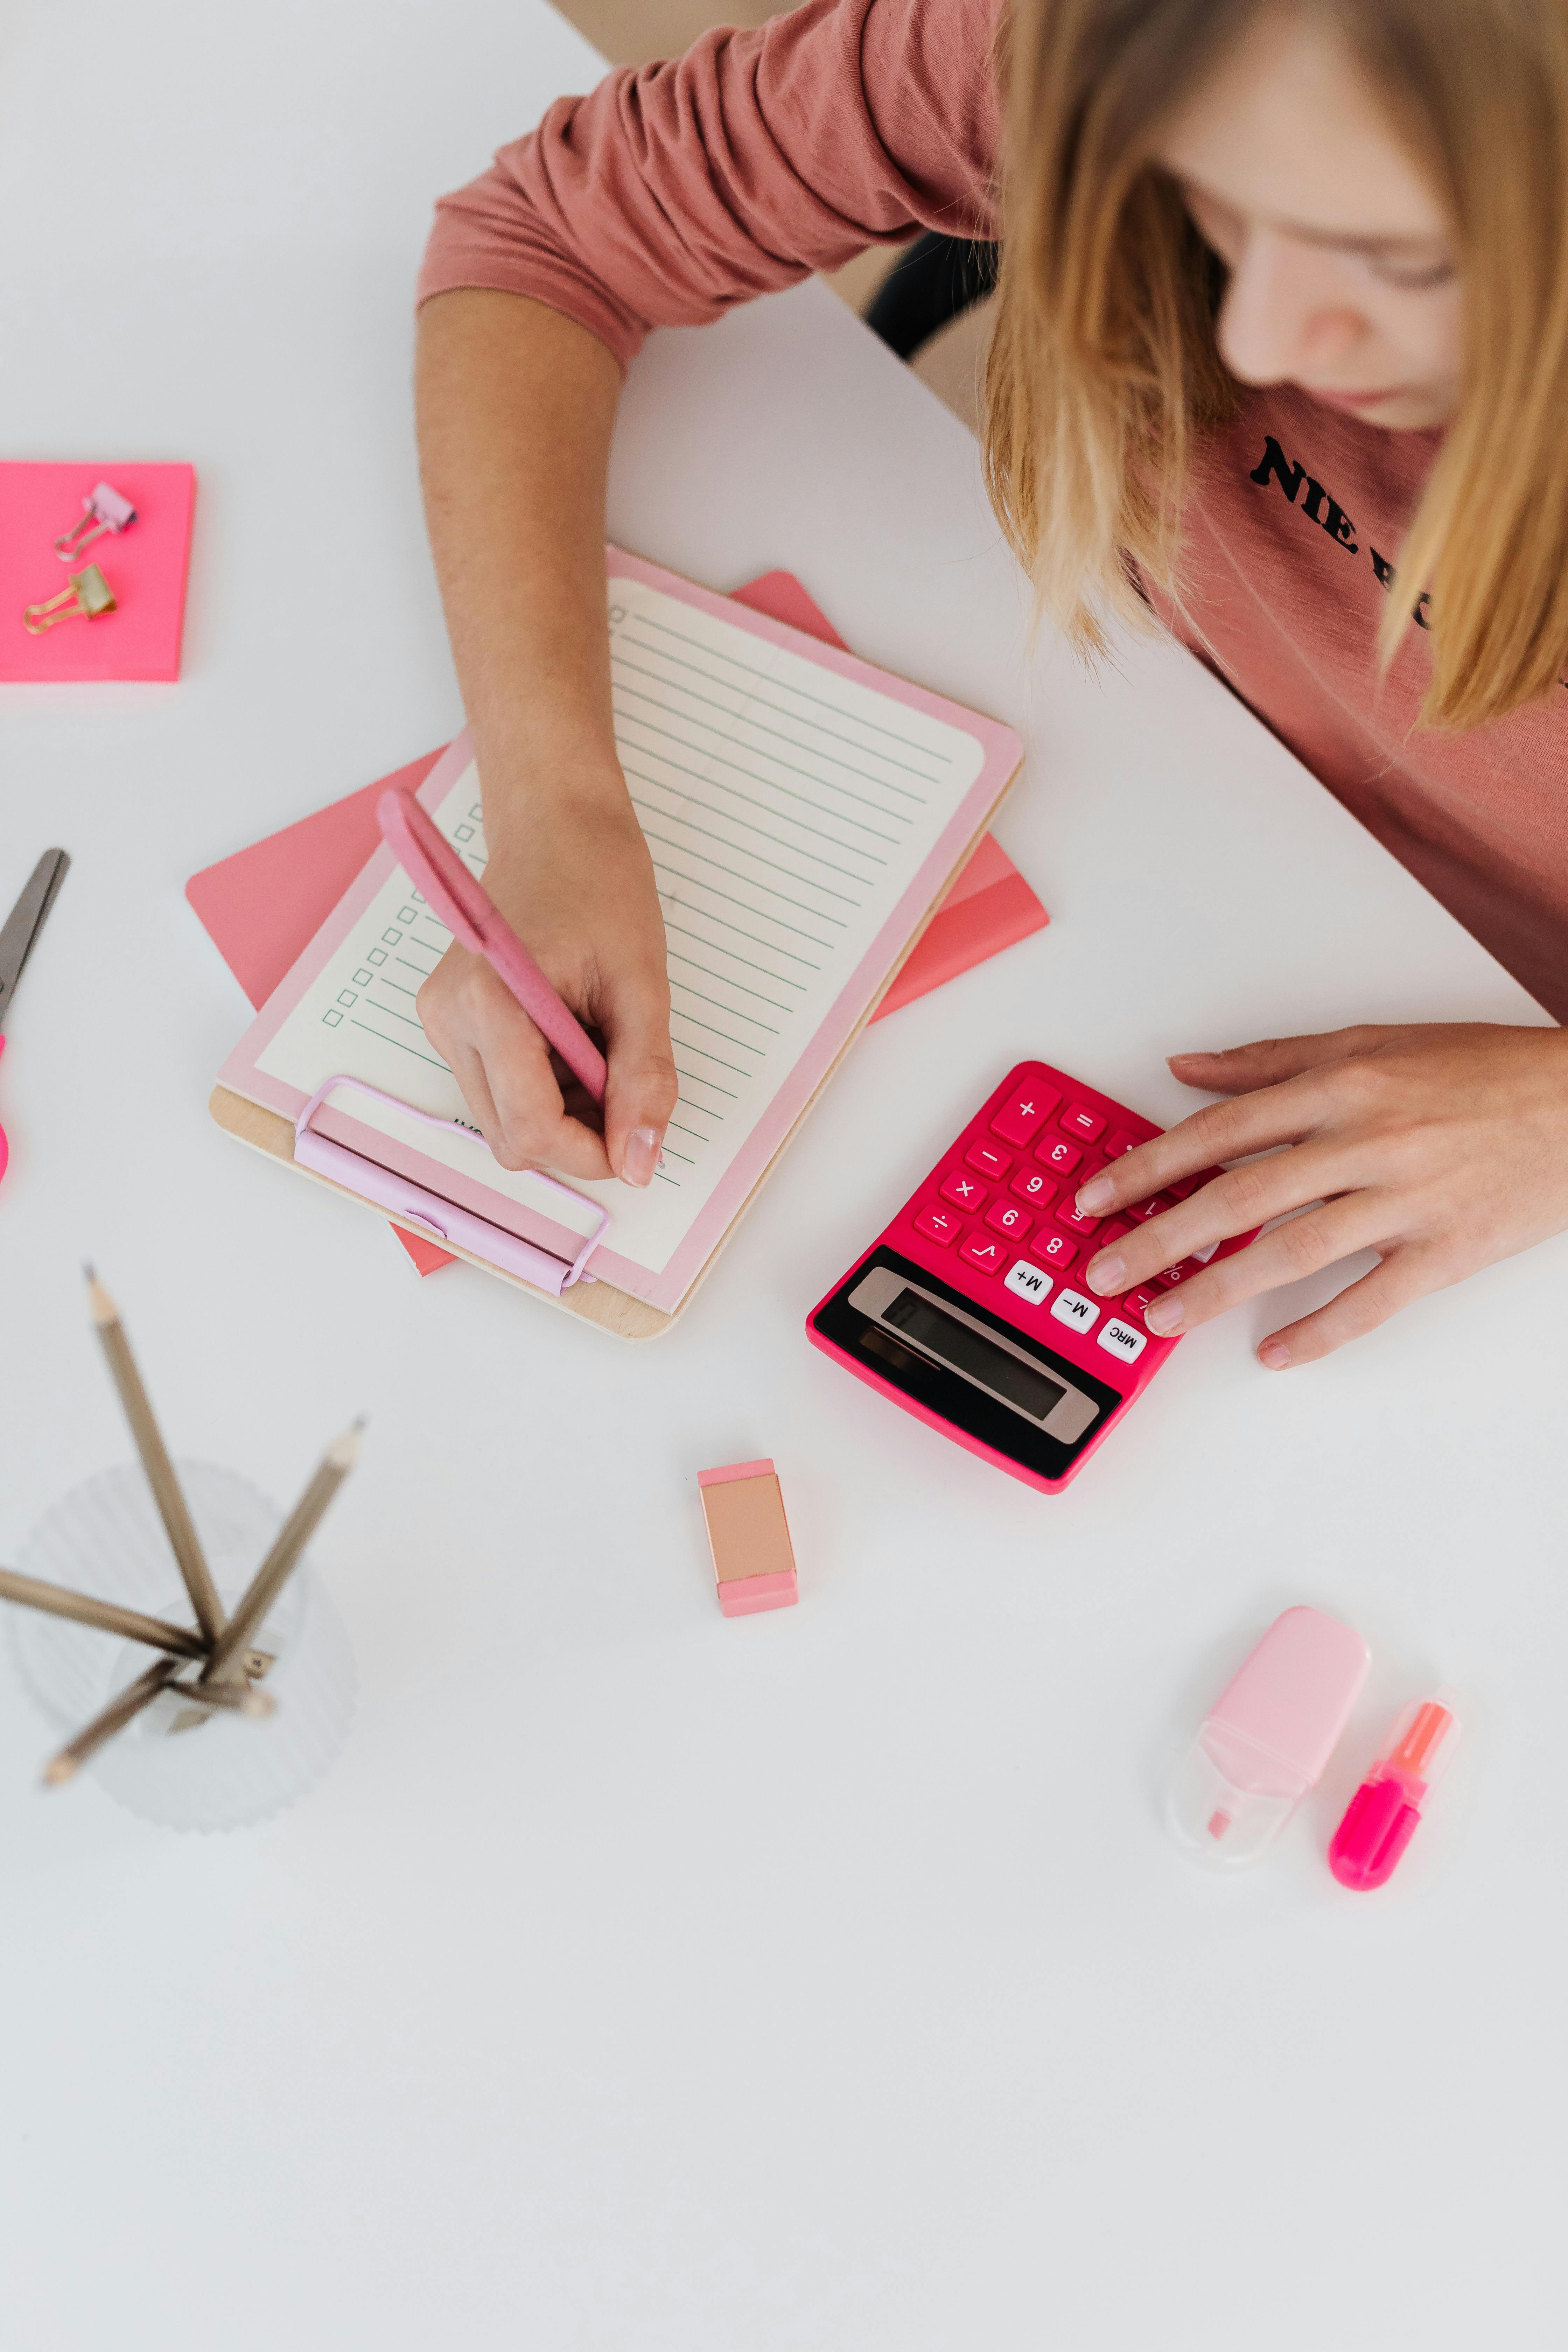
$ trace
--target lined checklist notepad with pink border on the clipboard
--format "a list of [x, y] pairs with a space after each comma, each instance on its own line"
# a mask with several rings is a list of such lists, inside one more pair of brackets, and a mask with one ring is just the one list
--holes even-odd
[[[611, 1209], [595, 1272], [672, 1308], [985, 823], [1018, 743], [635, 557], [611, 557], [609, 642], [616, 746], [665, 917], [679, 1101], [646, 1192], [574, 1188]], [[465, 741], [421, 800], [482, 875]], [[559, 1202], [496, 1167], [418, 1023], [447, 946], [381, 851], [223, 1082], [296, 1115], [346, 1073], [433, 1112], [449, 1129], [341, 1094], [317, 1124], [564, 1251]]]

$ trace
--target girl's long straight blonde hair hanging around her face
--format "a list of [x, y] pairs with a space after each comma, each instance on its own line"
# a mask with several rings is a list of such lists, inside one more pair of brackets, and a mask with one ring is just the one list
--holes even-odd
[[[985, 470], [1039, 604], [1084, 654], [1180, 604], [1180, 510], [1239, 386], [1220, 270], [1154, 167], [1161, 122], [1269, 0], [1016, 0]], [[1422, 590], [1422, 720], [1476, 727], [1568, 670], [1568, 5], [1298, 0], [1333, 14], [1453, 219], [1462, 390], [1382, 619]], [[1422, 609], [1422, 621], [1427, 609]]]

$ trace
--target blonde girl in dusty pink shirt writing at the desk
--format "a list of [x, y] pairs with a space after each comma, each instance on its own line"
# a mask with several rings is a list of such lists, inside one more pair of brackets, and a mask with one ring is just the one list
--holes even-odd
[[[1154, 614], [1561, 1018], [1568, 1007], [1566, 0], [806, 0], [562, 99], [447, 198], [421, 282], [437, 572], [487, 884], [607, 1042], [604, 1136], [451, 948], [430, 1040], [503, 1167], [651, 1178], [675, 1105], [654, 870], [616, 764], [604, 470], [651, 325], [914, 228], [1001, 240], [985, 470], [1093, 654]], [[1568, 1225], [1556, 1028], [1178, 1054], [1211, 1103], [1081, 1195], [1220, 1160], [1088, 1265], [1192, 1327], [1373, 1249], [1326, 1355]], [[1276, 1145], [1286, 1145], [1276, 1150]]]

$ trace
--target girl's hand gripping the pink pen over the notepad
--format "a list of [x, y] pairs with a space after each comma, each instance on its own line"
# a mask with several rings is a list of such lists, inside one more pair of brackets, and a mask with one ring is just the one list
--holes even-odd
[[646, 1185], [675, 1110], [665, 927], [654, 863], [621, 771], [512, 814], [484, 889], [609, 1063], [604, 1112], [555, 1061], [522, 1004], [480, 955], [447, 948], [418, 990], [425, 1037], [451, 1065], [503, 1169]]

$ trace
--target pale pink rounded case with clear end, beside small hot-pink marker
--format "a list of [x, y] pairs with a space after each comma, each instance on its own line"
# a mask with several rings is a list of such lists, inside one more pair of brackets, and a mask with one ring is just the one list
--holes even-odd
[[1265, 1853], [1316, 1788], [1371, 1653], [1321, 1609], [1286, 1609], [1204, 1717], [1171, 1785], [1175, 1842], [1218, 1870]]

